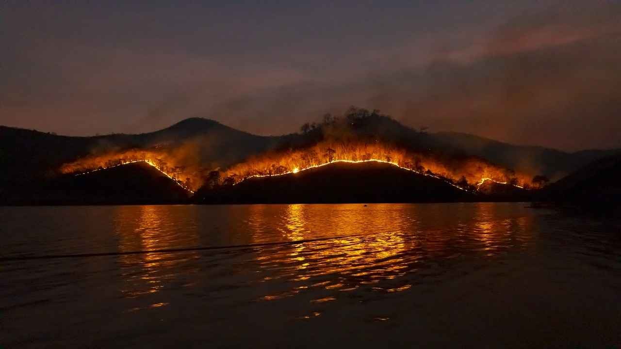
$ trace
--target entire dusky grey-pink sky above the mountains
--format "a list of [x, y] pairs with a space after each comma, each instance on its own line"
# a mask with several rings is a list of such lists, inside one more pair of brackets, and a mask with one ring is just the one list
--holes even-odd
[[0, 2], [0, 125], [297, 132], [347, 107], [410, 127], [621, 148], [621, 1]]

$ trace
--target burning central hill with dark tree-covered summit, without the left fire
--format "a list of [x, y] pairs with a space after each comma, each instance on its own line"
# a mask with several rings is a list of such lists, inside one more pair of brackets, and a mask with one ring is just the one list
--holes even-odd
[[368, 161], [433, 176], [468, 191], [477, 191], [487, 181], [525, 189], [545, 184], [541, 176], [516, 173], [481, 158], [434, 152], [420, 141], [425, 132], [406, 129], [378, 111], [351, 108], [343, 118], [327, 114], [320, 124], [305, 124], [301, 131], [297, 144], [285, 144], [223, 173], [213, 171], [206, 184], [211, 188], [234, 185], [248, 178], [297, 173], [335, 162]]

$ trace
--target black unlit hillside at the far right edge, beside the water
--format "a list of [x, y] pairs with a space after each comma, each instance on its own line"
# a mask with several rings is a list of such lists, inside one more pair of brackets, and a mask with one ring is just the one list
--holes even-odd
[[583, 166], [546, 188], [543, 199], [578, 204], [621, 204], [621, 153]]

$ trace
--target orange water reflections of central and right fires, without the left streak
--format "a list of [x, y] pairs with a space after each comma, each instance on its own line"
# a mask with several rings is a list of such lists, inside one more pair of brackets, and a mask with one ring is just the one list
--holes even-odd
[[[432, 260], [450, 259], [468, 246], [492, 258], [507, 249], [528, 245], [527, 220], [515, 217], [494, 220], [492, 206], [481, 204], [479, 217], [453, 217], [442, 213], [416, 212], [409, 205], [338, 206], [326, 212], [325, 207], [302, 204], [283, 208], [277, 225], [284, 238], [303, 243], [287, 247], [266, 247], [256, 253], [264, 281], [281, 279], [289, 284], [266, 300], [294, 296], [309, 288], [330, 291], [353, 291], [368, 288], [380, 292], [399, 292], [412, 287], [411, 279], [403, 278], [420, 268], [428, 268]], [[314, 211], [321, 209], [324, 214]], [[425, 211], [433, 210], [426, 206]], [[251, 211], [254, 227], [270, 225], [270, 217], [260, 209]], [[437, 222], [424, 222], [420, 217], [451, 215], [456, 224], [432, 229]], [[448, 217], [446, 217], [448, 220]], [[261, 224], [263, 220], [263, 224]], [[329, 230], [334, 238], [313, 240], [316, 231]], [[253, 233], [260, 240], [260, 231]], [[519, 236], [520, 238], [515, 238]], [[310, 240], [310, 241], [309, 241]], [[519, 246], [516, 246], [519, 245]], [[435, 263], [435, 262], [433, 262]], [[408, 281], [410, 280], [410, 281]]]

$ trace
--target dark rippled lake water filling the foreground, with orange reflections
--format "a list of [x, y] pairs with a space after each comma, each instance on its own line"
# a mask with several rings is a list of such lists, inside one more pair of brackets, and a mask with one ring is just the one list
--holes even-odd
[[[0, 222], [2, 348], [621, 345], [618, 220], [340, 204], [0, 207]], [[84, 253], [111, 254], [19, 259]]]

